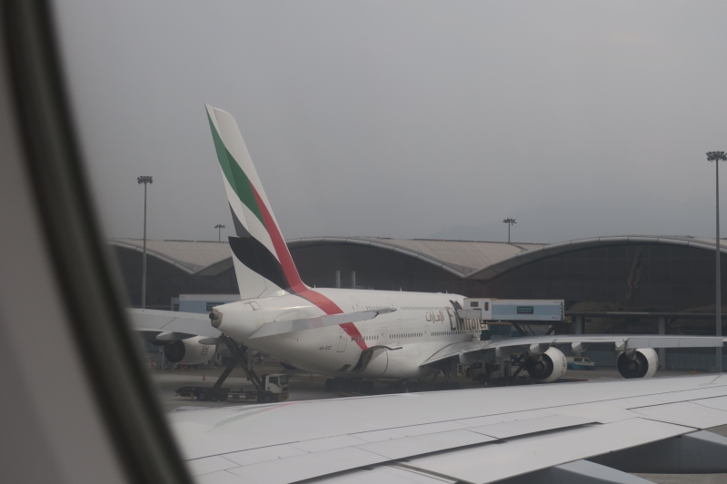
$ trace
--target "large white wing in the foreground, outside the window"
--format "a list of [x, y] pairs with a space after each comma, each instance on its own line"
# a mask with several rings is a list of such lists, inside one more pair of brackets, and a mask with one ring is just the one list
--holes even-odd
[[[294, 401], [169, 414], [204, 484], [647, 482], [727, 472], [727, 375]], [[598, 480], [601, 479], [601, 480]]]

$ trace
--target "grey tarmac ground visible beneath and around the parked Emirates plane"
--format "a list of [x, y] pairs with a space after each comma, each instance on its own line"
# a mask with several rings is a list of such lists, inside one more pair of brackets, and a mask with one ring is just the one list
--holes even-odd
[[[265, 373], [284, 372], [277, 361], [272, 359], [264, 359], [260, 364], [254, 366], [255, 371], [259, 375]], [[240, 405], [240, 403], [225, 401], [199, 401], [189, 398], [183, 398], [174, 395], [174, 390], [182, 386], [210, 386], [214, 385], [214, 381], [222, 373], [224, 367], [198, 367], [194, 369], [177, 369], [177, 370], [151, 370], [152, 380], [156, 384], [159, 401], [164, 411], [184, 411], [194, 408], [215, 408], [230, 407]], [[672, 376], [682, 376], [690, 374], [689, 371], [659, 370], [652, 378], [664, 378]], [[325, 390], [324, 382], [328, 377], [322, 375], [314, 375], [304, 371], [295, 370], [289, 376], [290, 397], [288, 400], [324, 400], [342, 398], [346, 394], [333, 390]], [[597, 369], [597, 370], [568, 370], [566, 373], [568, 380], [622, 380], [616, 369]], [[386, 381], [375, 381], [375, 392], [389, 391]], [[460, 388], [481, 388], [483, 385], [473, 383], [471, 379], [453, 377], [451, 383]], [[569, 381], [557, 382], [553, 384], [567, 385]], [[440, 375], [433, 382], [427, 382], [427, 390], [446, 390], [448, 385]], [[243, 370], [235, 369], [224, 382], [225, 388], [253, 390], [253, 385], [244, 375]], [[450, 390], [456, 391], [456, 390]], [[251, 404], [243, 404], [251, 405]], [[727, 425], [715, 427], [710, 431], [727, 437]], [[659, 484], [724, 484], [727, 483], [727, 474], [634, 474]]]

